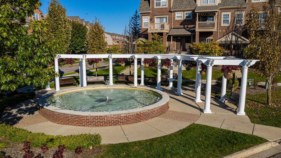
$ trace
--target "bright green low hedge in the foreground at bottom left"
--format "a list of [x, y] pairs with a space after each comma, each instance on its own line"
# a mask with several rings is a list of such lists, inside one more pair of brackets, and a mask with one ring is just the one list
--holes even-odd
[[[46, 127], [48, 128], [48, 127]], [[77, 147], [88, 149], [91, 146], [100, 145], [102, 138], [100, 134], [81, 134], [81, 135], [46, 135], [44, 133], [33, 133], [22, 128], [13, 127], [11, 125], [0, 125], [0, 137], [7, 137], [12, 142], [23, 143], [29, 141], [31, 147], [41, 147], [47, 144], [47, 147], [57, 147], [65, 144], [66, 149], [75, 150]]]

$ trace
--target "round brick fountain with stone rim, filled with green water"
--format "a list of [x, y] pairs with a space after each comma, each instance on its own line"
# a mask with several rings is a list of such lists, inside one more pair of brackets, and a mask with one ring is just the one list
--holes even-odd
[[134, 86], [88, 86], [60, 90], [39, 100], [39, 113], [63, 125], [127, 125], [157, 117], [169, 108], [169, 95]]

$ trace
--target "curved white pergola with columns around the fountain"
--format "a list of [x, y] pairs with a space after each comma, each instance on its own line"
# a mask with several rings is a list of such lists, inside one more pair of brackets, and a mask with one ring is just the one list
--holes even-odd
[[[246, 97], [246, 86], [247, 86], [247, 74], [248, 67], [255, 64], [258, 60], [245, 60], [235, 57], [223, 57], [223, 56], [200, 56], [200, 55], [180, 55], [180, 54], [57, 54], [55, 57], [55, 73], [58, 73], [58, 59], [59, 58], [78, 58], [79, 59], [79, 74], [80, 74], [80, 86], [87, 86], [86, 78], [86, 59], [88, 58], [109, 58], [109, 85], [113, 85], [113, 75], [112, 75], [112, 59], [113, 58], [134, 58], [134, 72], [137, 72], [137, 59], [141, 59], [141, 83], [144, 85], [144, 65], [142, 61], [144, 59], [154, 58], [158, 61], [157, 69], [157, 90], [161, 90], [161, 59], [178, 60], [178, 87], [176, 95], [181, 95], [181, 63], [182, 60], [196, 61], [196, 98], [194, 102], [202, 102], [201, 96], [201, 74], [199, 73], [198, 65], [204, 63], [207, 65], [207, 81], [206, 81], [206, 93], [205, 93], [205, 107], [203, 109], [204, 113], [212, 113], [210, 109], [211, 103], [211, 82], [212, 82], [212, 66], [213, 65], [241, 65], [243, 67], [242, 81], [240, 89], [239, 98], [239, 108], [237, 115], [245, 115], [245, 97]], [[55, 77], [55, 90], [60, 90], [59, 77]], [[134, 86], [137, 85], [137, 73], [134, 73]], [[173, 65], [170, 68], [169, 76], [169, 87], [173, 87]], [[225, 101], [224, 96], [226, 95], [226, 78], [222, 78], [221, 87], [221, 102]]]

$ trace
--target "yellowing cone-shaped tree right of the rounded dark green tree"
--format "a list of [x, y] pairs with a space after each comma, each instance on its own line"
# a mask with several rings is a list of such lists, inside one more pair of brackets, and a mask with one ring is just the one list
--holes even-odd
[[100, 23], [100, 19], [95, 19], [93, 25], [86, 36], [87, 53], [103, 54], [107, 51], [107, 42], [105, 40], [105, 29]]

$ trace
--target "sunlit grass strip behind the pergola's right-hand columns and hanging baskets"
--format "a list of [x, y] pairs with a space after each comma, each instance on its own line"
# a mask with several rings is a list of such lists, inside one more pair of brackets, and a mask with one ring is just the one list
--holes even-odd
[[[206, 73], [207, 74], [207, 73]], [[207, 75], [201, 75], [202, 80], [206, 80]], [[215, 80], [218, 78], [218, 76], [221, 74], [221, 71], [212, 71], [212, 80]], [[196, 79], [196, 69], [191, 69], [189, 71], [182, 70], [182, 79], [189, 79], [189, 80], [195, 80]]]

